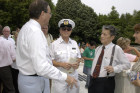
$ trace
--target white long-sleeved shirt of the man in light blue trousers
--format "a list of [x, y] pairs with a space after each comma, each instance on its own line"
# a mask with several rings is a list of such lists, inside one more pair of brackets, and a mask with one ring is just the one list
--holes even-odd
[[49, 47], [40, 24], [30, 19], [17, 38], [17, 66], [23, 75], [38, 74], [56, 80], [66, 80], [67, 75], [52, 65]]

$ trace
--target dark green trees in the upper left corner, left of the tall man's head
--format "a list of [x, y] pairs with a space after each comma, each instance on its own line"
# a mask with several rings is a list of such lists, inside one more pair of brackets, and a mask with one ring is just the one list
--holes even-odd
[[21, 2], [19, 0], [1, 0], [0, 1], [0, 23], [3, 26], [10, 26], [12, 30], [22, 25], [29, 19], [28, 6], [30, 2]]

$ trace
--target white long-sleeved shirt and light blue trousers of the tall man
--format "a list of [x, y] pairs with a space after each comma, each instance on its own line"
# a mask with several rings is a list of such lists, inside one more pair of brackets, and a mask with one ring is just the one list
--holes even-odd
[[[21, 28], [16, 53], [20, 93], [45, 93], [43, 77], [60, 81], [67, 79], [67, 74], [52, 65], [47, 40], [36, 20], [30, 19]], [[34, 74], [38, 76], [29, 76]]]

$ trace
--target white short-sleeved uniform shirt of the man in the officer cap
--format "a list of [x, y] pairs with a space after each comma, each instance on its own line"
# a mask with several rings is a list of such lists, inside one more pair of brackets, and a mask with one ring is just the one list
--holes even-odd
[[[56, 62], [69, 62], [70, 58], [81, 58], [81, 53], [77, 42], [70, 38], [68, 43], [66, 43], [60, 36], [51, 44], [50, 49], [52, 60], [55, 60]], [[63, 72], [66, 72], [66, 69], [62, 67], [57, 68]]]

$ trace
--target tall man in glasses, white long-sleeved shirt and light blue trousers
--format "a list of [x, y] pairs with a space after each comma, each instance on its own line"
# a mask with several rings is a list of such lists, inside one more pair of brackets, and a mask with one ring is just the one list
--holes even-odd
[[[52, 65], [49, 47], [41, 27], [48, 25], [51, 9], [44, 0], [29, 6], [30, 20], [21, 28], [17, 38], [18, 86], [20, 93], [44, 93], [44, 79], [66, 81], [76, 86], [77, 81]], [[41, 76], [41, 77], [40, 77]], [[43, 76], [43, 77], [42, 77]]]

